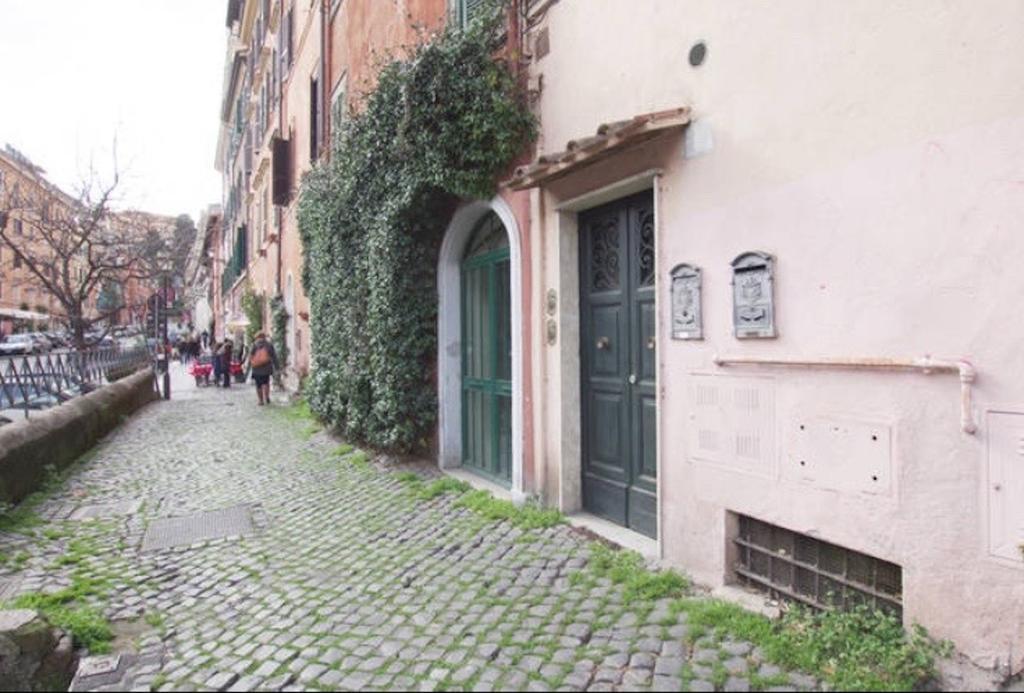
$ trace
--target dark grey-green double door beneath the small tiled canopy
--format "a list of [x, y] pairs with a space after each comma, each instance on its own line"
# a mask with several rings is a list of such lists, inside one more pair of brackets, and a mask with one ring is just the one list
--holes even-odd
[[583, 505], [657, 533], [654, 204], [580, 215]]

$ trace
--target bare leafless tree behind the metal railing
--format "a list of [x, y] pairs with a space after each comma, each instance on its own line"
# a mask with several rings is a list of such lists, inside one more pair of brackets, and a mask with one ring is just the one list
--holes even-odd
[[93, 346], [98, 338], [90, 332], [127, 307], [112, 288], [153, 269], [141, 255], [148, 219], [113, 209], [119, 180], [117, 173], [106, 183], [90, 174], [69, 196], [37, 176], [0, 192], [0, 248], [10, 251], [4, 274], [19, 267], [23, 281], [53, 297], [79, 349]]

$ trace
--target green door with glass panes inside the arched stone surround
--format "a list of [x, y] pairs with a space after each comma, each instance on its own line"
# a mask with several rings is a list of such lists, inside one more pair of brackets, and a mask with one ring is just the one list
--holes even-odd
[[494, 213], [462, 263], [462, 464], [512, 482], [512, 295], [508, 235]]

